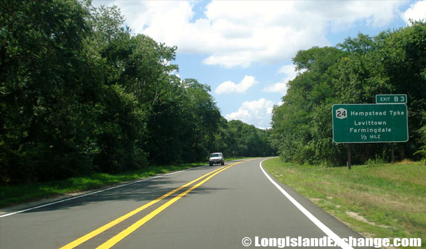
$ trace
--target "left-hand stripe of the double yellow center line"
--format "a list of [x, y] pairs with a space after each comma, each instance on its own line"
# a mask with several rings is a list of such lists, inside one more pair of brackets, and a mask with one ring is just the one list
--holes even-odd
[[[227, 167], [230, 167], [232, 165], [228, 165]], [[199, 178], [192, 180], [191, 182], [188, 182], [186, 185], [182, 185], [181, 187], [178, 187], [177, 189], [174, 189], [164, 195], [161, 195], [159, 198], [148, 202], [147, 204], [144, 204], [143, 206], [140, 206], [139, 208], [126, 213], [125, 215], [123, 215], [122, 217], [118, 217], [117, 219], [113, 220], [112, 222], [109, 222], [108, 224], [105, 224], [104, 226], [101, 226], [100, 228], [93, 230], [91, 233], [88, 233], [87, 235], [84, 235], [72, 242], [70, 242], [69, 244], [59, 248], [59, 249], [71, 249], [71, 248], [75, 248], [76, 246], [79, 246], [80, 244], [84, 243], [85, 241], [88, 241], [89, 239], [95, 237], [96, 235], [99, 235], [100, 233], [103, 233], [105, 230], [115, 226], [116, 224], [119, 224], [120, 222], [128, 219], [129, 217], [139, 213], [140, 211], [148, 208], [149, 206], [152, 206], [153, 204], [159, 202], [160, 200], [163, 200], [164, 198], [168, 197], [169, 195], [172, 195], [173, 193], [176, 193], [177, 191], [183, 189], [184, 187], [188, 187], [189, 185], [192, 185], [192, 183], [197, 182], [198, 180], [204, 178], [205, 176], [208, 176], [210, 174], [213, 174], [214, 172], [223, 169], [223, 167], [215, 169], [214, 171], [209, 172], [208, 174], [205, 174], [204, 176], [200, 176]]]

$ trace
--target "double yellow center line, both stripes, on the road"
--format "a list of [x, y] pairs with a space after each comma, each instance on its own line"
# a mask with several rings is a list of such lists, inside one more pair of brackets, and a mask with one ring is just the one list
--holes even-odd
[[124, 239], [124, 237], [130, 235], [137, 228], [139, 228], [140, 226], [142, 226], [143, 224], [148, 222], [148, 220], [151, 220], [153, 217], [155, 217], [155, 215], [161, 213], [161, 211], [164, 211], [164, 209], [168, 208], [168, 206], [177, 202], [177, 200], [179, 200], [180, 198], [182, 198], [183, 196], [188, 194], [190, 191], [196, 189], [200, 185], [203, 185], [204, 182], [207, 182], [213, 176], [216, 176], [216, 174], [221, 173], [221, 171], [224, 171], [225, 169], [228, 169], [229, 167], [232, 167], [232, 166], [237, 165], [239, 163], [243, 163], [243, 162], [232, 163], [230, 165], [227, 165], [226, 167], [218, 168], [214, 171], [209, 172], [208, 174], [205, 174], [204, 176], [201, 176], [201, 177], [199, 177], [195, 180], [192, 180], [191, 182], [188, 182], [186, 185], [182, 185], [181, 187], [178, 187], [177, 189], [174, 189], [174, 190], [172, 190], [172, 191], [170, 191], [170, 192], [168, 192], [164, 195], [161, 195], [159, 198], [157, 198], [157, 199], [155, 199], [151, 202], [148, 202], [147, 204], [144, 204], [143, 206], [140, 206], [139, 208], [137, 208], [137, 209], [135, 209], [135, 210], [133, 210], [129, 213], [126, 213], [125, 215], [123, 215], [121, 217], [118, 217], [117, 219], [113, 220], [112, 222], [109, 222], [108, 224], [105, 224], [104, 226], [101, 226], [100, 228], [93, 230], [91, 233], [88, 233], [87, 235], [84, 235], [84, 236], [72, 241], [71, 243], [61, 247], [60, 249], [75, 248], [76, 246], [79, 246], [80, 244], [84, 243], [85, 241], [88, 241], [89, 239], [99, 235], [100, 233], [103, 233], [105, 230], [108, 230], [109, 228], [119, 224], [120, 222], [123, 222], [124, 220], [128, 219], [129, 217], [132, 217], [133, 215], [135, 215], [135, 214], [139, 213], [140, 211], [148, 208], [149, 206], [152, 206], [153, 204], [163, 200], [164, 198], [167, 198], [168, 196], [172, 195], [173, 193], [176, 193], [177, 191], [179, 191], [179, 190], [181, 190], [185, 187], [188, 187], [188, 186], [192, 185], [193, 183], [198, 182], [199, 180], [205, 178], [204, 180], [202, 180], [201, 182], [197, 183], [196, 185], [190, 187], [189, 189], [187, 189], [183, 193], [179, 193], [179, 195], [177, 195], [175, 198], [172, 198], [171, 200], [169, 200], [165, 204], [162, 204], [161, 206], [159, 206], [159, 208], [155, 209], [154, 211], [152, 211], [151, 213], [149, 213], [148, 215], [146, 215], [142, 219], [138, 220], [137, 222], [135, 222], [131, 226], [128, 226], [128, 228], [122, 230], [122, 232], [118, 233], [117, 235], [115, 235], [114, 237], [112, 237], [111, 239], [106, 241], [104, 244], [98, 246], [98, 248], [111, 248], [112, 246], [117, 244], [120, 240]]

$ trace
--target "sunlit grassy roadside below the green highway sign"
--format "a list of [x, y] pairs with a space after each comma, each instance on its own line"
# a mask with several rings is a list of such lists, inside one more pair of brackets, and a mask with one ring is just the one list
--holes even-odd
[[426, 246], [426, 166], [320, 167], [272, 158], [265, 169], [366, 237], [418, 238]]

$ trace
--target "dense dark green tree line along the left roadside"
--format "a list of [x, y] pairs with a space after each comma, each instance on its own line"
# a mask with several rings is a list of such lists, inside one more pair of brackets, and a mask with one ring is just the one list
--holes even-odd
[[173, 74], [177, 47], [132, 35], [117, 7], [0, 3], [0, 183], [273, 154], [269, 132], [223, 119], [210, 86]]

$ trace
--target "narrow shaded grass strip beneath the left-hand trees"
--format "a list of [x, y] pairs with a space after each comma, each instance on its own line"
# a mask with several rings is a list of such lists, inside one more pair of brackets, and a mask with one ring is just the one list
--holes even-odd
[[[238, 159], [244, 158], [225, 158], [225, 161], [233, 161]], [[66, 193], [76, 193], [80, 191], [99, 189], [101, 187], [116, 185], [120, 182], [148, 178], [158, 174], [166, 174], [172, 171], [190, 169], [192, 167], [199, 167], [201, 165], [208, 165], [208, 161], [181, 165], [146, 167], [137, 171], [130, 171], [115, 175], [96, 173], [91, 176], [75, 177], [69, 178], [67, 180], [57, 180], [54, 182], [39, 182], [16, 186], [0, 185], [0, 208], [13, 204], [30, 202], [33, 200], [40, 200], [43, 198], [50, 198]]]

